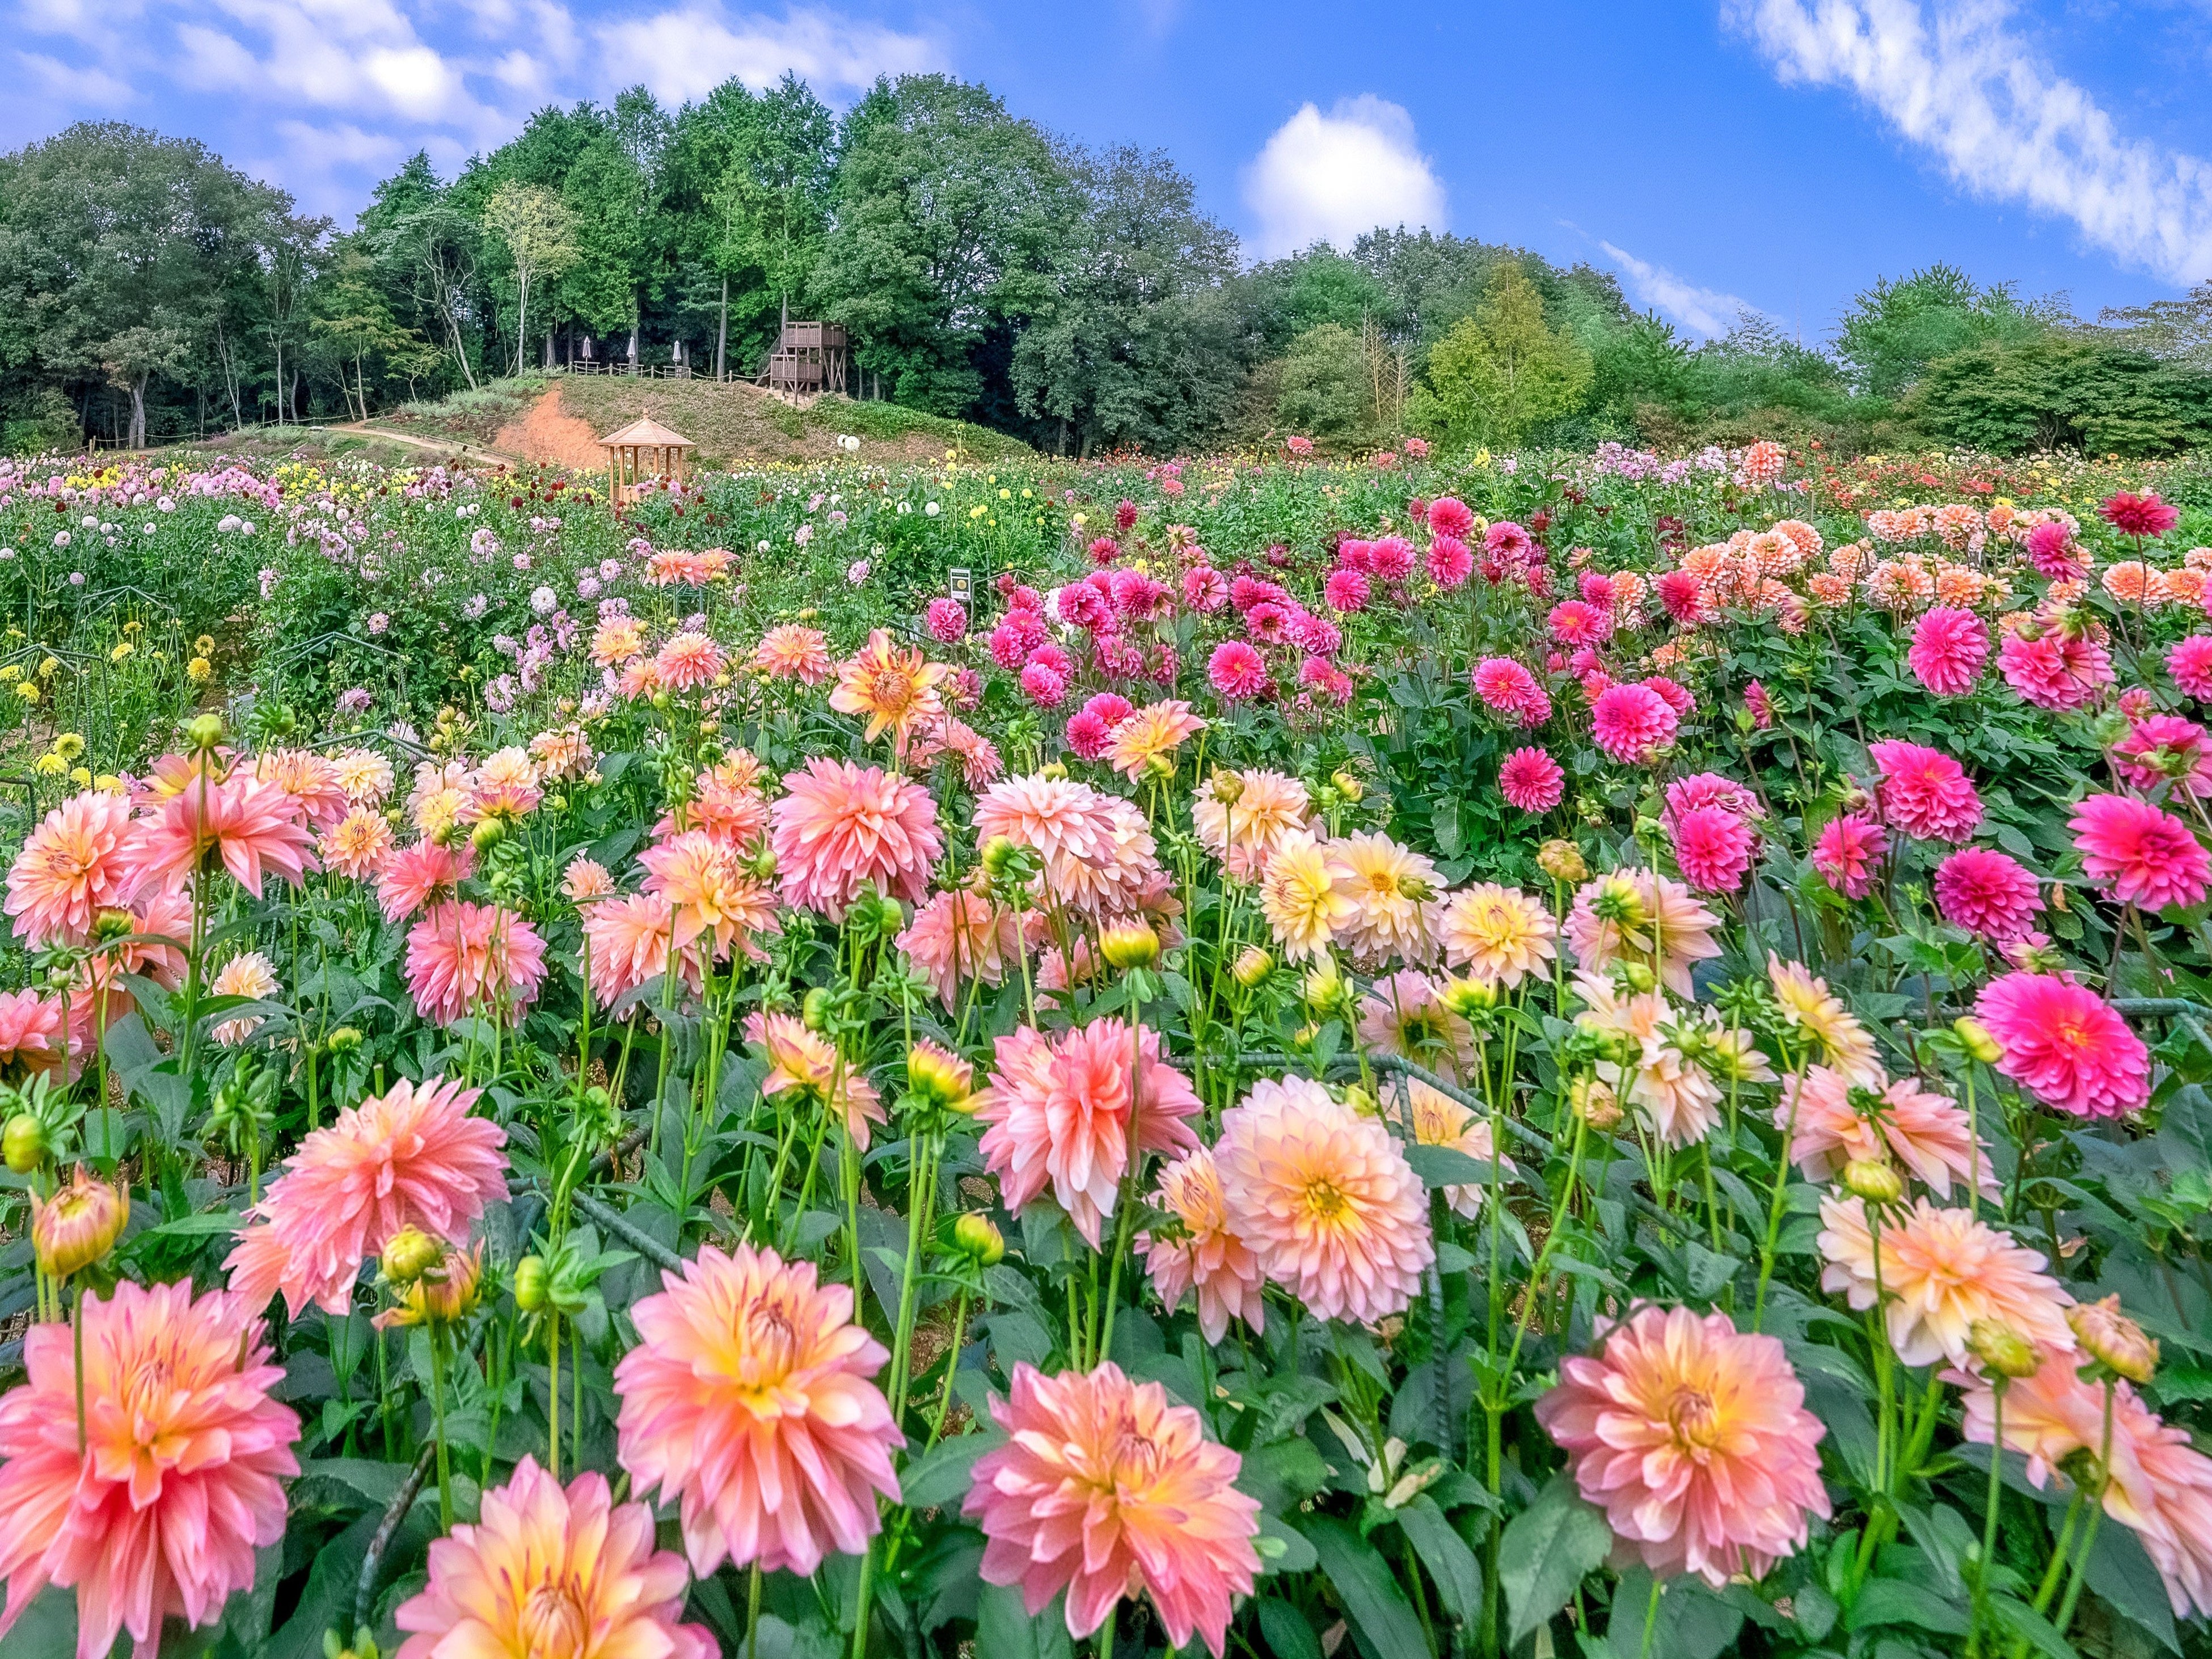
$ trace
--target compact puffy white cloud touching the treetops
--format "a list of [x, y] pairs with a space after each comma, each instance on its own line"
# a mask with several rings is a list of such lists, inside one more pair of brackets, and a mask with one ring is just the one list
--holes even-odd
[[1327, 115], [1301, 106], [1245, 168], [1243, 197], [1263, 259], [1349, 246], [1376, 226], [1444, 228], [1444, 186], [1413, 142], [1413, 117], [1374, 93]]

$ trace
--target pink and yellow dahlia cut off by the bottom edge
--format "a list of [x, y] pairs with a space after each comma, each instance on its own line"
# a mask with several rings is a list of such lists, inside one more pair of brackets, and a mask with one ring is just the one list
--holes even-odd
[[712, 1635], [679, 1624], [690, 1568], [661, 1551], [646, 1504], [617, 1504], [606, 1475], [566, 1491], [524, 1455], [482, 1515], [429, 1546], [429, 1582], [392, 1615], [414, 1635], [396, 1659], [456, 1648], [544, 1659], [635, 1652], [714, 1659]]

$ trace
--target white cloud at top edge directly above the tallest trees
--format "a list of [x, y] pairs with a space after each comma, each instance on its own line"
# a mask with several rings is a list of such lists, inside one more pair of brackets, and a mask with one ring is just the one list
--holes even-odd
[[703, 97], [737, 75], [761, 88], [792, 71], [816, 93], [854, 91], [876, 75], [945, 69], [927, 35], [905, 35], [834, 11], [787, 11], [781, 18], [699, 4], [650, 18], [622, 18], [595, 31], [606, 71], [617, 84], [644, 82], [664, 102]]

